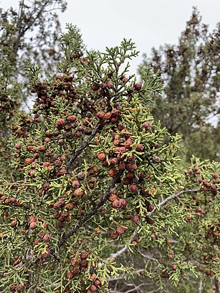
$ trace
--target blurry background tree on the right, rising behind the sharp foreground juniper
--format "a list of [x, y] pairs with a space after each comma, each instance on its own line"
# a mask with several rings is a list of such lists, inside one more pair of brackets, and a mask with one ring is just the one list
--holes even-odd
[[[155, 96], [153, 116], [171, 134], [181, 134], [188, 157], [196, 153], [202, 159], [217, 159], [219, 134], [214, 135], [212, 121], [219, 119], [219, 29], [217, 24], [208, 32], [208, 25], [193, 8], [177, 45], [153, 48], [151, 57], [145, 56], [140, 65], [140, 71], [151, 66], [161, 77], [163, 95]], [[209, 152], [210, 139], [215, 150], [211, 147]]]

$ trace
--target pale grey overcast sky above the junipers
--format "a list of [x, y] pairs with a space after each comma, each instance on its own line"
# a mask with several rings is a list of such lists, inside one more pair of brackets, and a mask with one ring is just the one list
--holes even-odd
[[[28, 0], [26, 0], [28, 1]], [[135, 73], [142, 54], [164, 43], [175, 44], [197, 6], [204, 23], [213, 29], [220, 21], [219, 0], [68, 0], [61, 14], [65, 23], [77, 25], [87, 49], [119, 45], [123, 38], [132, 38], [140, 54], [131, 61]], [[0, 0], [0, 7], [17, 7], [18, 0]]]

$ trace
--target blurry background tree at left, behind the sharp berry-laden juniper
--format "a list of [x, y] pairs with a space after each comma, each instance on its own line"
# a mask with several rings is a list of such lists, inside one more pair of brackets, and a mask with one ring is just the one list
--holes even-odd
[[10, 151], [4, 146], [7, 146], [13, 115], [30, 97], [25, 64], [27, 60], [35, 62], [52, 73], [61, 48], [61, 27], [56, 11], [63, 12], [65, 8], [63, 0], [21, 0], [18, 11], [0, 9], [1, 172], [8, 169], [5, 159], [10, 159]]

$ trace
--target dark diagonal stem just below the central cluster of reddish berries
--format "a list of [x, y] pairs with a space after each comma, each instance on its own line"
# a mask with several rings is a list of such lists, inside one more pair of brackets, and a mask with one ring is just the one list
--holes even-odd
[[78, 231], [78, 229], [81, 226], [83, 226], [83, 224], [85, 224], [85, 222], [87, 222], [87, 220], [91, 219], [94, 215], [97, 214], [100, 207], [102, 207], [104, 202], [106, 202], [108, 200], [108, 198], [111, 194], [111, 189], [113, 189], [113, 187], [115, 187], [115, 184], [117, 183], [120, 176], [122, 176], [122, 173], [123, 173], [123, 171], [118, 172], [118, 175], [115, 178], [113, 178], [111, 184], [109, 185], [107, 192], [102, 196], [102, 198], [99, 200], [99, 202], [97, 202], [97, 204], [94, 205], [94, 207], [83, 218], [81, 218], [79, 220], [78, 224], [76, 226], [72, 226], [72, 228], [70, 228], [66, 233], [64, 233], [64, 235], [58, 241], [59, 247], [63, 246], [63, 244], [66, 242], [66, 240], [69, 237], [71, 237], [72, 235], [74, 235], [74, 233], [76, 233], [76, 231]]

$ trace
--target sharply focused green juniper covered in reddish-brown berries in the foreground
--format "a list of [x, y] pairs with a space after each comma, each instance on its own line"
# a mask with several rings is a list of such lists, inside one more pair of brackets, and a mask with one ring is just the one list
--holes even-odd
[[[179, 136], [154, 123], [148, 106], [161, 91], [157, 76], [126, 76], [131, 40], [85, 51], [69, 25], [61, 43], [58, 75], [27, 68], [34, 107], [15, 111], [8, 133], [1, 290], [174, 292], [194, 272], [218, 292], [219, 164], [194, 160], [179, 172]], [[186, 224], [188, 239], [178, 238]]]

